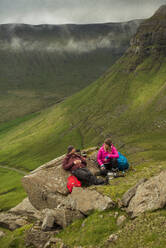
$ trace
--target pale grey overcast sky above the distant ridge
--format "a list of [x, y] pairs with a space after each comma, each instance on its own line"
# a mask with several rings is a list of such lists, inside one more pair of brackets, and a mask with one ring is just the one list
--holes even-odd
[[150, 17], [166, 0], [0, 0], [0, 23], [121, 22]]

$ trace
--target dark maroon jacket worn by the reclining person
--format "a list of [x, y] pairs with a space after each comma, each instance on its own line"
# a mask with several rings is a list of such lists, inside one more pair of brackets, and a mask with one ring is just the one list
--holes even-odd
[[[74, 161], [76, 160], [81, 160], [80, 164], [74, 164]], [[78, 168], [84, 168], [86, 167], [86, 159], [82, 157], [79, 154], [67, 154], [66, 157], [63, 160], [63, 169], [69, 170], [69, 171], [74, 171], [77, 170]]]

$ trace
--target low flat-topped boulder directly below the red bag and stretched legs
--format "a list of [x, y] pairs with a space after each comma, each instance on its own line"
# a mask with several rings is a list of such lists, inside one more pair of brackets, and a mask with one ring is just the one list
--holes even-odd
[[89, 215], [93, 210], [103, 211], [115, 206], [110, 197], [88, 188], [74, 188], [67, 201], [69, 207], [84, 215]]

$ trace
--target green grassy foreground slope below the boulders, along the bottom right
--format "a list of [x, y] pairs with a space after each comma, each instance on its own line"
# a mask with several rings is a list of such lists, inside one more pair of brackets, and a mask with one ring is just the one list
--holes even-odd
[[[128, 217], [117, 226], [116, 209], [96, 212], [85, 220], [76, 221], [63, 230], [58, 237], [68, 247], [83, 248], [163, 248], [165, 247], [166, 210], [147, 212], [135, 220]], [[118, 211], [118, 216], [125, 215]], [[116, 242], [108, 242], [111, 234], [116, 234]]]

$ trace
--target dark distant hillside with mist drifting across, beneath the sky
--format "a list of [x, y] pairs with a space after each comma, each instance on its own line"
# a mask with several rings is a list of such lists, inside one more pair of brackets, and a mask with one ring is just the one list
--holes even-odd
[[89, 85], [125, 52], [140, 23], [0, 25], [0, 122]]

